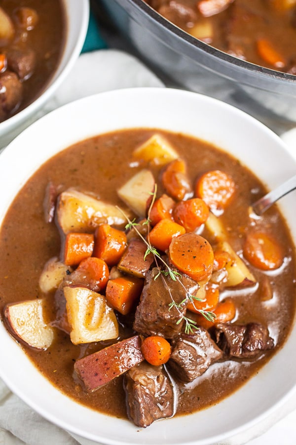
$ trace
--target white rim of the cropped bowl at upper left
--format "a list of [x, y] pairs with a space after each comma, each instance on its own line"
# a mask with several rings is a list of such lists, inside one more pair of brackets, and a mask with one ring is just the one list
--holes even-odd
[[[69, 7], [71, 2], [75, 1], [75, 8], [79, 7], [80, 13], [77, 15], [79, 17], [80, 21], [80, 27], [77, 32], [75, 32], [75, 43], [74, 45], [70, 45], [70, 42], [68, 40], [68, 35], [70, 32], [74, 35], [73, 31], [71, 29], [70, 21], [69, 21]], [[0, 123], [0, 135], [6, 135], [10, 130], [13, 130], [17, 127], [17, 125], [21, 125], [24, 121], [29, 119], [34, 112], [39, 110], [43, 104], [53, 95], [54, 91], [58, 89], [58, 87], [61, 85], [61, 83], [64, 81], [64, 79], [67, 77], [68, 73], [71, 71], [76, 59], [78, 58], [81, 49], [84, 44], [84, 40], [87, 33], [87, 27], [88, 27], [88, 21], [89, 21], [89, 14], [90, 14], [90, 6], [89, 6], [89, 0], [62, 0], [64, 14], [65, 14], [65, 20], [66, 20], [66, 37], [65, 37], [65, 47], [63, 49], [63, 52], [60, 57], [60, 62], [53, 73], [51, 79], [49, 80], [48, 84], [45, 86], [45, 89], [43, 89], [38, 97], [30, 103], [27, 107], [25, 107], [23, 110], [19, 111], [18, 113], [14, 114], [8, 119], [5, 119], [5, 121], [2, 121]], [[69, 53], [68, 55], [68, 61], [63, 67], [63, 64], [67, 59], [64, 61], [64, 57], [66, 53]]]

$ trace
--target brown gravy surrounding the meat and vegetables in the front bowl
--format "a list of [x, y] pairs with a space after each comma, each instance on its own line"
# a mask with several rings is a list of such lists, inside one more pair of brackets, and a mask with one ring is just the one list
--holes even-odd
[[[154, 134], [153, 130], [135, 129], [103, 134], [79, 142], [47, 161], [18, 193], [2, 223], [0, 231], [0, 311], [7, 303], [41, 297], [38, 278], [44, 264], [58, 256], [60, 234], [54, 223], [45, 223], [42, 202], [49, 181], [63, 189], [75, 187], [94, 192], [114, 204], [120, 204], [116, 189], [134, 175], [131, 153], [139, 144]], [[242, 249], [244, 234], [250, 228], [248, 206], [264, 193], [259, 180], [238, 160], [216, 147], [183, 134], [158, 131], [173, 144], [185, 159], [192, 181], [202, 172], [221, 169], [229, 173], [237, 184], [236, 199], [225, 210], [222, 219], [228, 227], [236, 252]], [[158, 178], [159, 169], [153, 170]], [[161, 190], [158, 190], [161, 193]], [[285, 265], [279, 273], [265, 274], [252, 269], [259, 286], [240, 291], [224, 291], [222, 298], [233, 298], [237, 308], [237, 322], [255, 321], [267, 326], [275, 341], [275, 348], [256, 360], [227, 360], [212, 365], [203, 376], [190, 384], [180, 384], [177, 414], [190, 413], [229, 396], [246, 382], [281, 348], [289, 334], [295, 314], [295, 248], [285, 221], [276, 207], [269, 210], [259, 224], [268, 227], [270, 234], [285, 251]], [[206, 233], [204, 233], [206, 237]], [[268, 276], [273, 290], [271, 300], [262, 301], [262, 277]], [[52, 318], [52, 299], [48, 299], [48, 317]], [[128, 337], [130, 331], [120, 335]], [[47, 351], [22, 347], [38, 370], [54, 386], [76, 401], [113, 416], [126, 418], [122, 377], [111, 381], [92, 394], [87, 394], [74, 378], [75, 360], [95, 352], [111, 342], [74, 346], [67, 334], [59, 331]]]

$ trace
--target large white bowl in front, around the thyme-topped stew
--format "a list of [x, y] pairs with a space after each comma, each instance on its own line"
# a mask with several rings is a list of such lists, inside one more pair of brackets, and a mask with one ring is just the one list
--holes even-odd
[[[280, 138], [230, 105], [176, 89], [116, 90], [53, 111], [1, 153], [0, 189], [5, 193], [0, 195], [0, 222], [20, 187], [49, 157], [90, 136], [136, 127], [182, 132], [214, 143], [240, 159], [269, 188], [296, 172], [296, 162]], [[296, 192], [284, 197], [281, 208], [296, 241], [295, 198]], [[142, 430], [61, 394], [38, 373], [2, 324], [0, 344], [0, 376], [15, 394], [51, 422], [103, 444], [214, 444], [255, 427], [296, 397], [296, 373], [291, 372], [296, 368], [296, 329], [259, 374], [227, 399]]]

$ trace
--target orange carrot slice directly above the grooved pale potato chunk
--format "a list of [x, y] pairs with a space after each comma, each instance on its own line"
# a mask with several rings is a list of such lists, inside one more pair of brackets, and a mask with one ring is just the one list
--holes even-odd
[[76, 270], [83, 272], [89, 283], [96, 283], [96, 291], [105, 289], [109, 280], [109, 268], [101, 258], [86, 258], [79, 263]]

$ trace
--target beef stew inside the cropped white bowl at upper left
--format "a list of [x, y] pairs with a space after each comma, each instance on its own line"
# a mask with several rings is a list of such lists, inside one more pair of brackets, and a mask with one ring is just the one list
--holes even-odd
[[0, 6], [0, 122], [32, 103], [61, 59], [66, 17], [61, 0], [3, 0]]

